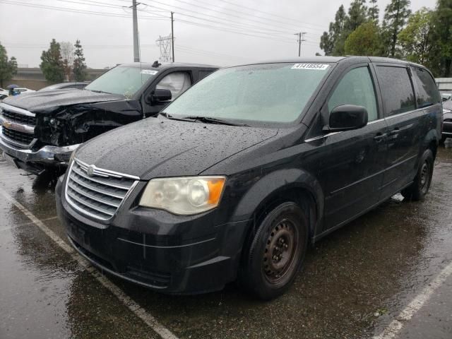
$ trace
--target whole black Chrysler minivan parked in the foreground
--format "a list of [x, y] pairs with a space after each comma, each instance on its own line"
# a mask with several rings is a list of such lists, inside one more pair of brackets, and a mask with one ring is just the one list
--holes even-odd
[[57, 185], [71, 244], [167, 293], [239, 280], [281, 295], [309, 242], [402, 192], [422, 200], [441, 139], [423, 66], [316, 57], [220, 69], [161, 112], [83, 144]]

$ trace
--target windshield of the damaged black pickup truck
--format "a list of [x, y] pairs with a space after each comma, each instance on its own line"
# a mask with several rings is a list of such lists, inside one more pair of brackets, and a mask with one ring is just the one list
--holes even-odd
[[124, 95], [130, 99], [157, 71], [140, 67], [117, 66], [85, 87], [93, 92]]

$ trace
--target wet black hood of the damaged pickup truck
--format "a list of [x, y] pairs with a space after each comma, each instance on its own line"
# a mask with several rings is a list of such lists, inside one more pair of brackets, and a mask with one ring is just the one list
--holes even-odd
[[93, 102], [105, 102], [124, 100], [124, 95], [96, 93], [90, 90], [48, 90], [7, 97], [5, 104], [27, 109], [30, 112], [39, 112], [56, 107], [76, 104], [89, 104]]

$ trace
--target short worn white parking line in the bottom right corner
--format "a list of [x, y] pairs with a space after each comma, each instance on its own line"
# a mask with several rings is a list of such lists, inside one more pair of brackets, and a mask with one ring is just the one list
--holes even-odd
[[392, 339], [396, 338], [400, 330], [403, 328], [404, 324], [412, 319], [417, 311], [421, 309], [421, 307], [432, 297], [435, 290], [440, 287], [448, 278], [449, 275], [452, 274], [452, 263], [449, 263], [439, 275], [436, 275], [436, 278], [429, 283], [427, 287], [422, 290], [422, 292], [412, 299], [412, 302], [408, 304], [400, 314], [391, 321], [391, 323], [386, 327], [380, 335], [374, 336], [374, 339]]

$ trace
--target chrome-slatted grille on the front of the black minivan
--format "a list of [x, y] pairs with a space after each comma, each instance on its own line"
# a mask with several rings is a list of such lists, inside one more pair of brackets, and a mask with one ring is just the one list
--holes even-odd
[[66, 182], [66, 200], [86, 215], [108, 220], [121, 206], [137, 179], [74, 160]]

